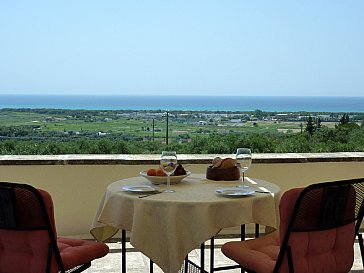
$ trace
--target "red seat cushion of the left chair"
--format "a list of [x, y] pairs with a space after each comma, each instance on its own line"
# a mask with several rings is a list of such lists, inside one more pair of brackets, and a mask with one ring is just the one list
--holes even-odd
[[109, 252], [106, 244], [89, 240], [59, 237], [57, 245], [66, 270], [101, 258]]

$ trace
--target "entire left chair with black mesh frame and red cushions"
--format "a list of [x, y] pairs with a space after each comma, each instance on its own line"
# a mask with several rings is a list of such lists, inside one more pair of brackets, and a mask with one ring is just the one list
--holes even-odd
[[81, 272], [105, 256], [104, 243], [57, 238], [50, 194], [0, 182], [0, 272]]

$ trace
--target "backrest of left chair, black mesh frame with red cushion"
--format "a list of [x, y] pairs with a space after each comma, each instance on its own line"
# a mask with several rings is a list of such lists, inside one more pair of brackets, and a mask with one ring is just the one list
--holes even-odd
[[0, 272], [64, 272], [51, 196], [26, 184], [0, 182]]

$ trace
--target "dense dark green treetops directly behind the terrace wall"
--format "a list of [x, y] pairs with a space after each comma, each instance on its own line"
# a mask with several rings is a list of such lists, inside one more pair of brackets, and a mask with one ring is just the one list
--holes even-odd
[[[254, 153], [309, 153], [364, 151], [364, 128], [323, 127], [312, 136], [299, 134], [243, 134], [194, 136], [190, 142], [170, 141], [169, 148], [178, 153], [229, 154], [238, 147], [250, 147]], [[162, 142], [145, 140], [81, 139], [67, 142], [0, 141], [0, 154], [158, 154]]]

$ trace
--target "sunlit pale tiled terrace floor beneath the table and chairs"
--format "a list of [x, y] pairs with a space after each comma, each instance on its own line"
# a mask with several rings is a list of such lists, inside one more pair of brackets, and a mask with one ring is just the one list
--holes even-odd
[[[225, 241], [235, 239], [216, 239], [215, 240], [215, 266], [231, 265], [231, 261], [227, 259], [220, 251], [220, 246]], [[92, 262], [91, 268], [87, 269], [87, 273], [120, 273], [121, 272], [121, 244], [119, 242], [108, 243], [110, 252], [104, 258]], [[205, 250], [205, 269], [209, 268], [209, 244], [206, 243]], [[189, 254], [191, 261], [200, 264], [200, 250], [196, 249]], [[157, 266], [153, 267], [154, 273], [163, 273]], [[142, 253], [136, 251], [129, 243], [127, 243], [127, 272], [128, 273], [147, 273], [149, 272], [149, 259]], [[240, 273], [240, 269], [222, 271], [229, 273]], [[364, 273], [363, 265], [361, 262], [359, 245], [355, 243], [355, 261], [350, 271], [352, 273]]]

